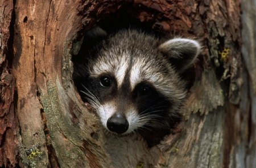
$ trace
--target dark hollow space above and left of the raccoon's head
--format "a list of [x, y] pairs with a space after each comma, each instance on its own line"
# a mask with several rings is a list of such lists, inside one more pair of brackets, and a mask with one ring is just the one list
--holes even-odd
[[[138, 29], [139, 31], [155, 36], [156, 38], [170, 36], [170, 25], [167, 25], [166, 22], [161, 21], [160, 18], [164, 17], [156, 10], [142, 7], [139, 4], [134, 6], [131, 3], [127, 3], [126, 5], [121, 6], [116, 12], [100, 18], [97, 24], [94, 24], [89, 29], [86, 29], [90, 30], [94, 27], [100, 27], [106, 31], [108, 36], [111, 36], [113, 33], [122, 29], [129, 28]], [[87, 32], [88, 31], [81, 30], [78, 33], [76, 40], [73, 41], [72, 49], [72, 62], [74, 68], [73, 80], [75, 82], [77, 92], [79, 92], [81, 99], [84, 102], [86, 102], [84, 93], [80, 91], [82, 88], [77, 87], [77, 84], [82, 83], [82, 81], [76, 81], [76, 71], [81, 70], [81, 66], [79, 66], [81, 62], [86, 62], [86, 50], [88, 50], [87, 46], [90, 44], [90, 40], [85, 37]]]

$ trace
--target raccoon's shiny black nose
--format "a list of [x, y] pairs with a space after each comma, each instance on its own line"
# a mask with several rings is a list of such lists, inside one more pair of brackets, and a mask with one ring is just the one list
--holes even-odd
[[107, 127], [112, 132], [123, 133], [128, 130], [129, 123], [123, 115], [114, 114], [108, 119]]

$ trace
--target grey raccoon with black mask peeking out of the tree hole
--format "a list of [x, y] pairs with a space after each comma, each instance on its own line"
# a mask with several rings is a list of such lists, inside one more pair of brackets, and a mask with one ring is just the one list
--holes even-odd
[[181, 75], [195, 63], [199, 42], [163, 40], [138, 29], [108, 36], [99, 27], [84, 38], [73, 80], [106, 130], [117, 135], [162, 134], [180, 121], [187, 96]]

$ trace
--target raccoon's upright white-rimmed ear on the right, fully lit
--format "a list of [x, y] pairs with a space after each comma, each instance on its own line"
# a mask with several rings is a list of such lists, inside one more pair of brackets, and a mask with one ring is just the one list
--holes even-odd
[[200, 54], [201, 45], [188, 38], [174, 38], [159, 45], [159, 49], [169, 57], [177, 71], [182, 73], [195, 63]]

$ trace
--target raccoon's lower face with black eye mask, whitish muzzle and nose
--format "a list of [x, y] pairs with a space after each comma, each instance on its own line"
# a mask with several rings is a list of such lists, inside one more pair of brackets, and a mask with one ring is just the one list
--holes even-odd
[[168, 117], [171, 102], [150, 80], [142, 79], [131, 88], [129, 80], [123, 79], [119, 85], [109, 72], [89, 77], [88, 81], [85, 88], [92, 94], [85, 94], [109, 131], [126, 134]]

